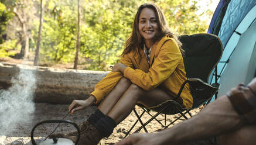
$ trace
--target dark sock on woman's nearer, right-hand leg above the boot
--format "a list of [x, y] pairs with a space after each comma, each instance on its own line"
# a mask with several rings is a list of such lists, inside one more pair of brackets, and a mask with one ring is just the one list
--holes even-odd
[[110, 116], [105, 116], [98, 120], [98, 122], [94, 125], [98, 131], [104, 136], [108, 137], [113, 133], [114, 128], [117, 126], [115, 121], [110, 118]]

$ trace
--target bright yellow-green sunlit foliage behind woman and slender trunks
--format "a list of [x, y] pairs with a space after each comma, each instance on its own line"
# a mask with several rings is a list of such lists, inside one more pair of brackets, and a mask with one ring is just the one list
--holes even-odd
[[[124, 50], [124, 43], [131, 34], [132, 23], [139, 5], [155, 2], [161, 7], [169, 27], [178, 34], [206, 33], [208, 24], [201, 20], [213, 12], [198, 14], [198, 2], [203, 0], [84, 0], [80, 1], [80, 53], [79, 64], [87, 70], [105, 70], [116, 64]], [[11, 1], [10, 1], [11, 2]], [[14, 0], [12, 0], [14, 2]], [[20, 0], [19, 2], [22, 2]], [[15, 3], [16, 4], [16, 3]], [[38, 6], [39, 0], [33, 0]], [[76, 53], [77, 1], [48, 0], [44, 2], [43, 28], [40, 44], [40, 61], [73, 63]], [[1, 12], [1, 5], [0, 5]], [[37, 12], [37, 13], [38, 13]], [[30, 28], [30, 47], [36, 47], [39, 13]], [[0, 24], [0, 27], [4, 26]], [[35, 50], [35, 49], [34, 49]]]

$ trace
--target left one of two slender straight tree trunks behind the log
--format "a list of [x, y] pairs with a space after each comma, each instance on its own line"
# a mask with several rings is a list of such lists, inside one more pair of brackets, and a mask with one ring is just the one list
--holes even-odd
[[42, 32], [42, 25], [43, 25], [43, 0], [41, 0], [40, 9], [41, 9], [40, 24], [39, 24], [39, 32], [38, 32], [38, 37], [37, 37], [36, 56], [35, 56], [35, 60], [34, 60], [34, 65], [37, 65], [37, 62], [39, 60], [41, 32]]

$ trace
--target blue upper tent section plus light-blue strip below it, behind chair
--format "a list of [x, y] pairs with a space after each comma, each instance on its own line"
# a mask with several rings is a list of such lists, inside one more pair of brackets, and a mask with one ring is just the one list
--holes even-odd
[[[228, 65], [228, 61], [233, 54], [240, 35], [255, 22], [256, 12], [255, 0], [220, 0], [219, 5], [214, 12], [213, 18], [209, 26], [208, 33], [219, 36], [223, 44], [223, 56], [217, 65], [217, 75], [221, 77], [224, 69]], [[250, 20], [244, 22], [245, 17]], [[241, 22], [242, 21], [242, 22]], [[215, 70], [214, 70], [215, 71]], [[211, 72], [209, 82], [213, 83], [213, 74]], [[220, 78], [218, 79], [218, 82]]]

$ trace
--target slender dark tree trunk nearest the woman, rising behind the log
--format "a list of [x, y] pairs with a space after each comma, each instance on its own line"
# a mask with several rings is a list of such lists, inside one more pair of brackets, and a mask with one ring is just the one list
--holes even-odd
[[79, 9], [79, 0], [77, 4], [77, 12], [78, 12], [78, 20], [77, 20], [77, 42], [76, 42], [76, 57], [74, 58], [74, 69], [77, 70], [78, 63], [78, 54], [79, 54], [79, 46], [80, 46], [80, 9]]

